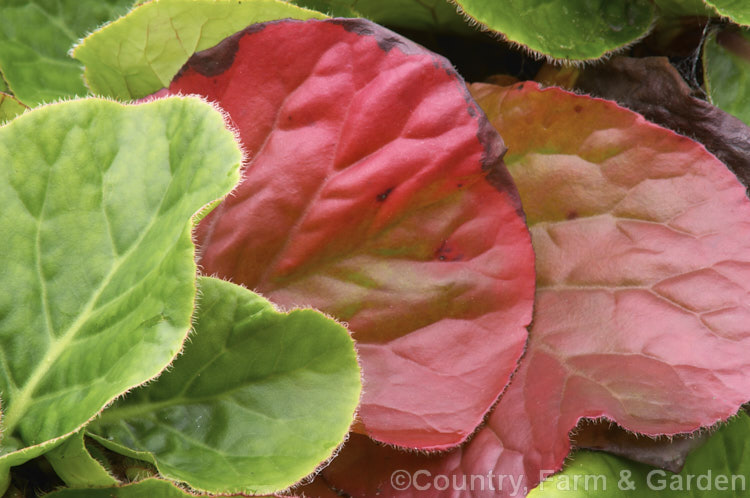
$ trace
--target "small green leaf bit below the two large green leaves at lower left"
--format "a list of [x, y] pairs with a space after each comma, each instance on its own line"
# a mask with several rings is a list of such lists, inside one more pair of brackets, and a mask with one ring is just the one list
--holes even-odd
[[83, 441], [83, 431], [73, 434], [44, 456], [68, 486], [103, 488], [119, 484], [88, 452]]

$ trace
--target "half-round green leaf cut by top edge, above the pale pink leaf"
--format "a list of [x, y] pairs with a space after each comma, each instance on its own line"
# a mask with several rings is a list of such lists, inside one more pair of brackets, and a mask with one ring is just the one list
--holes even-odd
[[454, 0], [479, 26], [554, 59], [590, 60], [645, 36], [649, 0]]

